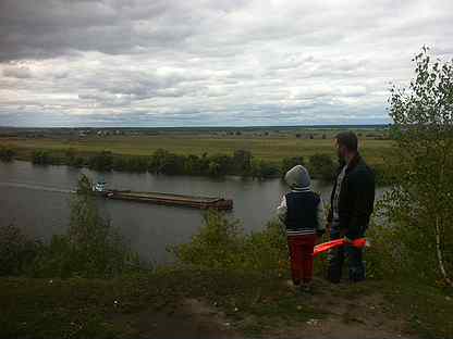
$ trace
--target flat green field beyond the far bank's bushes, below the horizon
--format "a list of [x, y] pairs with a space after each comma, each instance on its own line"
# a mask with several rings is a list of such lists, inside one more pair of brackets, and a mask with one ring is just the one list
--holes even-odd
[[[177, 154], [207, 152], [232, 154], [235, 150], [247, 150], [257, 159], [280, 161], [285, 156], [308, 158], [315, 153], [334, 155], [333, 139], [302, 139], [294, 136], [207, 136], [207, 135], [159, 135], [159, 136], [89, 136], [84, 138], [0, 138], [0, 145], [22, 151], [45, 149], [66, 150], [73, 148], [81, 153], [103, 150], [115, 154], [150, 155], [157, 149]], [[389, 140], [360, 139], [360, 152], [370, 164], [381, 164], [390, 155]]]

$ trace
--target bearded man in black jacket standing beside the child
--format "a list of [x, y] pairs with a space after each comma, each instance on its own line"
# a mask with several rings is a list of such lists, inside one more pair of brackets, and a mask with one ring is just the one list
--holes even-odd
[[[368, 228], [375, 205], [375, 175], [358, 153], [358, 140], [354, 133], [341, 133], [335, 139], [340, 167], [328, 215], [330, 238], [354, 240], [364, 237]], [[328, 279], [340, 282], [345, 256], [348, 260], [350, 280], [364, 280], [362, 249], [347, 244], [330, 252]]]

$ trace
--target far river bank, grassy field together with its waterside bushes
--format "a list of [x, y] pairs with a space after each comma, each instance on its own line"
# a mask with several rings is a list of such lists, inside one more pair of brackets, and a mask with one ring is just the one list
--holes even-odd
[[[331, 140], [247, 138], [241, 141], [199, 136], [179, 136], [169, 140], [149, 136], [68, 140], [3, 137], [0, 138], [0, 155], [3, 154], [0, 158], [107, 172], [207, 177], [236, 175], [260, 179], [282, 177], [295, 164], [305, 164], [313, 178], [330, 181], [336, 170]], [[384, 159], [391, 158], [392, 143], [368, 139], [362, 142], [362, 152], [376, 172], [378, 185], [388, 185]], [[166, 145], [166, 148], [158, 145]], [[219, 148], [212, 149], [213, 145]]]

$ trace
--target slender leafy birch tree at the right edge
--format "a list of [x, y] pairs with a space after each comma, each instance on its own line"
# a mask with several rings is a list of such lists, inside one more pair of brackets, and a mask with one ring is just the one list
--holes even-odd
[[417, 265], [429, 281], [452, 284], [453, 62], [431, 61], [427, 48], [414, 61], [415, 79], [393, 87], [389, 100], [399, 184], [384, 208], [405, 265]]

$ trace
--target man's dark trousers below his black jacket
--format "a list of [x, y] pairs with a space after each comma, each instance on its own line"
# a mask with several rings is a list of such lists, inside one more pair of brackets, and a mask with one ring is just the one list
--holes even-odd
[[[362, 238], [364, 233], [360, 234]], [[340, 239], [342, 235], [339, 229], [331, 227], [330, 239]], [[354, 239], [351, 239], [354, 240]], [[342, 275], [342, 267], [345, 258], [347, 258], [350, 280], [357, 282], [365, 280], [365, 264], [363, 262], [363, 250], [353, 246], [344, 246], [341, 248], [333, 249], [329, 252], [329, 271], [328, 278], [331, 282], [340, 282]]]

